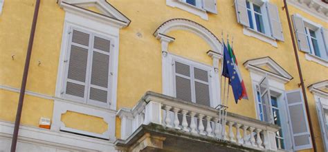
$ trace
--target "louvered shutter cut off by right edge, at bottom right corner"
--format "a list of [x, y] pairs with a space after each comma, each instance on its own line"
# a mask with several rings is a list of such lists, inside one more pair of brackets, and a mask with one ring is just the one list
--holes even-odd
[[[325, 113], [328, 113], [328, 109], [324, 109], [322, 107], [320, 98], [318, 98], [318, 102], [316, 102], [317, 113], [319, 118], [319, 123], [321, 127], [321, 135], [322, 141], [324, 141], [325, 150], [328, 151], [328, 134], [327, 134], [327, 121], [325, 118]], [[328, 102], [328, 101], [327, 101]]]

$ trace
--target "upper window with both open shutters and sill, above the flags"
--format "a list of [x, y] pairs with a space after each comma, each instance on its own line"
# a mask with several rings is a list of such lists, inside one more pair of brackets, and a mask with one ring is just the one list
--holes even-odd
[[271, 43], [284, 41], [277, 6], [268, 1], [235, 0], [238, 23], [244, 25], [244, 34]]

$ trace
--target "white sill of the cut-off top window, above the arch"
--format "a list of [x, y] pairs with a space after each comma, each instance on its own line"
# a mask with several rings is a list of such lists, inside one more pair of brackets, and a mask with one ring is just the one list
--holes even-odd
[[208, 13], [206, 10], [203, 10], [203, 8], [192, 6], [191, 4], [179, 0], [166, 0], [166, 5], [173, 8], [180, 8], [181, 10], [196, 14], [197, 16], [201, 17], [201, 19], [208, 20]]

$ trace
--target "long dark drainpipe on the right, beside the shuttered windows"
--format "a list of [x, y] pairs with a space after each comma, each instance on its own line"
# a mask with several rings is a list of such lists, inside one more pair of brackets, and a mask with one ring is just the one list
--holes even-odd
[[298, 50], [297, 50], [296, 44], [295, 44], [293, 28], [291, 27], [291, 19], [289, 17], [289, 11], [288, 11], [288, 6], [287, 6], [286, 0], [284, 0], [284, 9], [286, 10], [286, 16], [287, 16], [287, 21], [288, 21], [288, 25], [289, 25], [289, 32], [291, 33], [291, 41], [293, 43], [295, 59], [296, 59], [297, 65], [298, 65], [298, 74], [300, 76], [300, 85], [302, 86], [302, 93], [303, 93], [303, 98], [304, 98], [304, 103], [305, 103], [305, 109], [307, 110], [307, 119], [309, 120], [309, 127], [310, 127], [310, 132], [311, 132], [311, 140], [312, 140], [312, 144], [313, 144], [313, 150], [316, 152], [317, 148], [316, 148], [316, 141], [314, 140], [312, 121], [311, 121], [311, 116], [310, 116], [310, 111], [309, 111], [309, 103], [307, 102], [307, 93], [305, 92], [302, 69], [300, 67], [300, 60], [298, 59]]

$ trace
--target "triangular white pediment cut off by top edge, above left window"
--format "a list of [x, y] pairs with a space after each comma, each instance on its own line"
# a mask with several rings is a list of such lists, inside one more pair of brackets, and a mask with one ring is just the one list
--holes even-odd
[[89, 19], [114, 23], [118, 28], [127, 27], [131, 22], [105, 0], [58, 0], [58, 4], [65, 11], [80, 14]]

